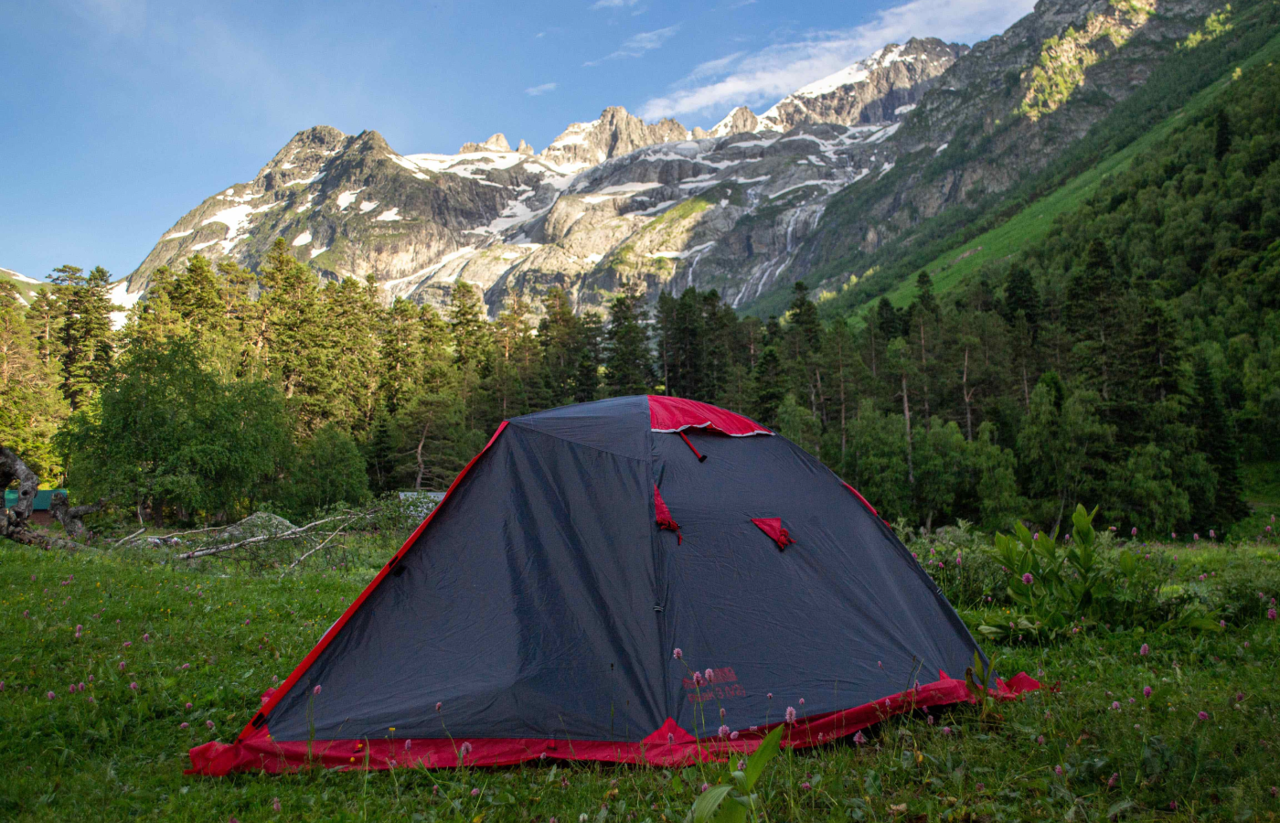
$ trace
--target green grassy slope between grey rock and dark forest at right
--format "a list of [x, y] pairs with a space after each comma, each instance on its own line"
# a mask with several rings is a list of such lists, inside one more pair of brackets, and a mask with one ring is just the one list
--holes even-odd
[[[1274, 59], [1280, 51], [1275, 41], [1280, 33], [1280, 5], [1276, 3], [1233, 4], [1224, 19], [1228, 23], [1220, 26], [1215, 36], [1193, 37], [1183, 47], [1171, 50], [1140, 88], [1116, 104], [1042, 172], [1028, 175], [1011, 189], [987, 193], [920, 220], [874, 252], [818, 262], [804, 279], [828, 292], [822, 302], [823, 316], [829, 320], [860, 317], [861, 307], [882, 294], [890, 294], [897, 306], [905, 305], [914, 294], [909, 282], [914, 283], [920, 269], [942, 278], [937, 284], [940, 291], [951, 288], [983, 262], [1007, 257], [1042, 237], [1053, 216], [1080, 204], [1098, 180], [1123, 170], [1144, 148], [1162, 140], [1181, 118], [1208, 105], [1234, 70]], [[1009, 124], [1000, 128], [1009, 128]], [[979, 136], [960, 154], [956, 154], [957, 146], [937, 156], [929, 152], [924, 165], [909, 155], [877, 180], [849, 187], [832, 201], [818, 234], [806, 242], [820, 246], [823, 234], [846, 230], [844, 223], [856, 221], [860, 214], [872, 209], [899, 175], [919, 174], [920, 179], [933, 179], [957, 163], [963, 164], [965, 154], [980, 151], [983, 140]], [[961, 255], [966, 256], [961, 259]], [[850, 280], [851, 271], [865, 274]], [[745, 311], [759, 317], [781, 315], [788, 302], [790, 288], [780, 288], [746, 306]]]

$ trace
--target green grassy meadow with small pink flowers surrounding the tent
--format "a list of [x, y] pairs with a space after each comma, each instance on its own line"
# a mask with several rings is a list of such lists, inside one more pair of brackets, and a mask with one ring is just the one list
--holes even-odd
[[[326, 567], [283, 579], [174, 562], [172, 549], [0, 543], [0, 819], [659, 822], [684, 819], [703, 783], [726, 779], [717, 764], [183, 776], [187, 749], [236, 736], [390, 543], [353, 539]], [[1274, 584], [1280, 566], [1256, 544], [1152, 550], [1178, 585], [1222, 581], [1206, 589], [1215, 596], [1254, 596], [1228, 585], [1228, 570], [1252, 587]], [[768, 819], [1275, 819], [1280, 632], [1256, 599], [1245, 605], [1221, 634], [1100, 628], [1056, 646], [989, 648], [1002, 672], [1057, 686], [989, 723], [960, 707], [895, 718], [863, 746], [785, 753], [759, 786]], [[964, 616], [998, 613], [997, 603]]]

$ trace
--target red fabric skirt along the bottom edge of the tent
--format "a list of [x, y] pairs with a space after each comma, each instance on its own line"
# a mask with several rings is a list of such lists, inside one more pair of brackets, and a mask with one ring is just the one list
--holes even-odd
[[[996, 681], [992, 694], [1012, 700], [1039, 689], [1025, 672], [1009, 682]], [[975, 703], [968, 685], [942, 673], [941, 680], [841, 712], [801, 718], [782, 737], [783, 746], [803, 749], [852, 735], [895, 714], [932, 705]], [[774, 723], [776, 726], [776, 723]], [[221, 777], [232, 772], [287, 772], [311, 767], [332, 769], [456, 768], [512, 765], [526, 760], [603, 760], [685, 765], [754, 751], [773, 726], [739, 731], [736, 739], [696, 740], [671, 718], [640, 742], [545, 740], [534, 737], [486, 740], [314, 740], [276, 741], [262, 726], [234, 744], [206, 742], [191, 750], [187, 774]]]

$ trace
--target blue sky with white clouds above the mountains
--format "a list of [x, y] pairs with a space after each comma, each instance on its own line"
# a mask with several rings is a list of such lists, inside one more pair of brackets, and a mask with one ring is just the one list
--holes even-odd
[[0, 268], [128, 275], [297, 132], [401, 154], [541, 150], [611, 105], [714, 125], [888, 42], [973, 44], [1033, 0], [10, 0], [0, 4]]

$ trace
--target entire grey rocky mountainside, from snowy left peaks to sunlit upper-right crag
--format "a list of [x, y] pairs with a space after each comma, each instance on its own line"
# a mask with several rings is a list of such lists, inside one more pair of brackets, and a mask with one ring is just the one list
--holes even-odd
[[502, 134], [401, 155], [376, 132], [315, 127], [178, 220], [120, 297], [197, 252], [253, 268], [276, 237], [387, 300], [443, 305], [474, 283], [490, 316], [517, 297], [536, 312], [553, 285], [580, 311], [637, 287], [716, 288], [737, 307], [801, 276], [842, 288], [859, 255], [1043, 168], [1212, 6], [1041, 0], [972, 51], [890, 45], [760, 116], [739, 108], [690, 132], [611, 108], [536, 155]]

